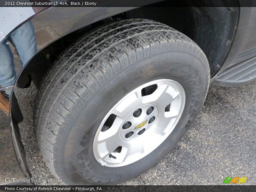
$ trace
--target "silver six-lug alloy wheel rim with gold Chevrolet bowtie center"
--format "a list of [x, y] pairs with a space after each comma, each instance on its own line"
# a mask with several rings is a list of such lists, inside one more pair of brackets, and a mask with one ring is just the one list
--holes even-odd
[[[142, 90], [148, 88], [152, 93], [144, 94]], [[119, 100], [100, 123], [93, 141], [95, 159], [107, 167], [140, 160], [171, 134], [184, 106], [185, 91], [176, 81], [159, 79], [137, 87]], [[104, 130], [110, 116], [112, 122]]]

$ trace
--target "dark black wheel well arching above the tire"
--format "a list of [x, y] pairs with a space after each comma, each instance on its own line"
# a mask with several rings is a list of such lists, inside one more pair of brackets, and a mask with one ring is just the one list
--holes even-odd
[[44, 74], [60, 52], [77, 36], [110, 20], [129, 18], [152, 19], [162, 22], [184, 33], [194, 40], [204, 51], [213, 76], [221, 67], [228, 54], [238, 22], [239, 8], [234, 7], [169, 7], [166, 2], [140, 7], [115, 15], [81, 28], [48, 45], [28, 63], [17, 81], [17, 86], [25, 88], [31, 80], [39, 86]]

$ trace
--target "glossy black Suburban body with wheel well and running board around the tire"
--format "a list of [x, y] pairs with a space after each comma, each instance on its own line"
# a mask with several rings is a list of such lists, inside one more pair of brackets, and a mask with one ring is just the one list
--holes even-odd
[[[155, 2], [144, 1], [144, 5]], [[6, 108], [9, 111], [5, 113], [0, 109], [0, 184], [7, 184], [4, 182], [6, 177], [30, 177], [19, 134], [18, 123], [22, 121], [22, 114], [13, 92], [14, 86], [28, 87], [31, 80], [38, 86], [51, 61], [62, 51], [60, 47], [64, 48], [77, 34], [108, 20], [133, 17], [158, 20], [183, 32], [202, 48], [210, 63], [212, 84], [240, 86], [256, 78], [256, 8], [239, 7], [239, 4], [242, 1], [237, 2], [237, 7], [226, 7], [224, 1], [223, 7], [174, 8], [163, 4], [145, 8], [51, 7], [21, 20], [15, 28], [4, 26], [9, 32], [1, 43], [5, 43], [4, 40], [22, 25], [31, 22], [37, 51], [22, 68], [19, 62], [14, 62], [17, 64], [15, 83], [4, 87], [0, 84], [0, 92], [7, 93], [4, 98], [8, 100]], [[13, 9], [19, 11], [19, 8]], [[14, 58], [19, 58], [14, 48], [12, 53]]]

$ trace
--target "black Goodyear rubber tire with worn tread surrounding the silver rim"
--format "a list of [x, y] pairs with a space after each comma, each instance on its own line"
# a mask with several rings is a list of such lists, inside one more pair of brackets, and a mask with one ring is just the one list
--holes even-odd
[[[100, 164], [93, 152], [102, 120], [127, 93], [166, 79], [184, 89], [185, 104], [170, 135], [127, 165]], [[204, 52], [162, 23], [121, 20], [82, 36], [44, 77], [35, 104], [35, 131], [50, 171], [66, 184], [118, 184], [147, 171], [180, 140], [203, 105], [210, 69]]]

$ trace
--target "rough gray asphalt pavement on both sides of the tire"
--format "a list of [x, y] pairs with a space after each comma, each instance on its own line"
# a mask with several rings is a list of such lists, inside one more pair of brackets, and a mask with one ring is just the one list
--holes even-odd
[[[33, 128], [36, 88], [15, 88], [24, 115], [19, 124], [32, 178], [53, 179]], [[256, 184], [256, 81], [242, 87], [211, 85], [204, 106], [181, 141], [148, 172], [125, 185], [222, 185], [225, 177]], [[40, 183], [54, 184], [54, 183]]]

